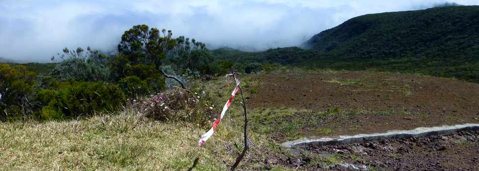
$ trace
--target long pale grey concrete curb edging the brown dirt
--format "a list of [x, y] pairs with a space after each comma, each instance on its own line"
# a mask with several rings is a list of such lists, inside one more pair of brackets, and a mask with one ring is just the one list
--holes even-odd
[[379, 141], [390, 140], [400, 138], [412, 138], [412, 137], [427, 137], [431, 135], [443, 135], [457, 133], [463, 130], [479, 130], [479, 124], [464, 124], [455, 126], [442, 126], [442, 127], [421, 127], [412, 130], [392, 130], [386, 133], [373, 133], [373, 134], [358, 134], [353, 136], [341, 135], [336, 137], [323, 137], [323, 138], [301, 138], [293, 141], [286, 141], [282, 144], [283, 147], [305, 147], [309, 145], [323, 146], [323, 145], [337, 145], [337, 144], [353, 144], [363, 141]]

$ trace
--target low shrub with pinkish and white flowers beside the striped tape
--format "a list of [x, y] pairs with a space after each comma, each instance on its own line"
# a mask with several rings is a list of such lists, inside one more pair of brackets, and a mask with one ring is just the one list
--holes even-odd
[[157, 94], [141, 105], [146, 117], [159, 121], [192, 122], [206, 126], [217, 115], [201, 99], [188, 90], [174, 87], [162, 94]]

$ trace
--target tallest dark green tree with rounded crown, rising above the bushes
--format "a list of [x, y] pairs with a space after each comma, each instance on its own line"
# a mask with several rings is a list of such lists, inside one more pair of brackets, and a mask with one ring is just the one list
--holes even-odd
[[[130, 77], [136, 76], [140, 81], [146, 81], [152, 90], [164, 88], [164, 77], [158, 74], [164, 74], [161, 70], [162, 61], [176, 45], [172, 35], [171, 30], [163, 29], [160, 33], [157, 28], [149, 28], [145, 24], [135, 25], [125, 31], [118, 44], [120, 54], [110, 64], [115, 71], [116, 80], [122, 80], [123, 85], [132, 85], [133, 83], [127, 81], [138, 81]], [[130, 79], [123, 79], [126, 77]], [[159, 84], [159, 80], [163, 84]]]

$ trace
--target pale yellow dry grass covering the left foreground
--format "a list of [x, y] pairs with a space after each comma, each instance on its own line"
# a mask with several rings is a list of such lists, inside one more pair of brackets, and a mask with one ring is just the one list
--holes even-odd
[[[207, 87], [205, 98], [215, 104], [215, 110], [221, 109], [233, 88], [222, 79], [195, 84], [198, 94], [202, 87]], [[257, 85], [252, 80], [249, 84]], [[197, 171], [227, 170], [242, 150], [243, 119], [239, 102], [235, 99], [217, 132], [201, 148], [196, 147], [197, 141], [207, 129], [184, 122], [152, 121], [134, 107], [83, 120], [0, 123], [0, 168], [5, 171], [187, 170], [199, 157]], [[255, 147], [267, 142], [264, 136], [254, 132], [249, 133], [249, 138], [255, 145], [240, 163], [245, 170], [250, 166], [242, 164], [248, 163], [251, 156], [261, 155]]]

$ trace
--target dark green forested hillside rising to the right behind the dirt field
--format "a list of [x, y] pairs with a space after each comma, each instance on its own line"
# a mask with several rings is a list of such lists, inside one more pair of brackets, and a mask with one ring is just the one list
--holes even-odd
[[241, 52], [220, 59], [421, 73], [479, 82], [479, 6], [369, 14], [325, 30], [298, 47]]

